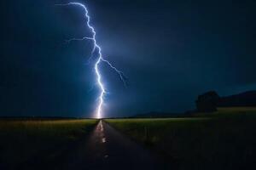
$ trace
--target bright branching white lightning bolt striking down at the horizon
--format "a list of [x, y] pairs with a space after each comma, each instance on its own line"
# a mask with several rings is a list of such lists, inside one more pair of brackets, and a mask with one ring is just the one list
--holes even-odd
[[90, 15], [89, 15], [89, 12], [88, 12], [86, 6], [83, 3], [76, 3], [76, 2], [75, 3], [55, 4], [55, 5], [57, 5], [57, 6], [73, 5], [73, 6], [79, 6], [80, 8], [84, 9], [84, 17], [86, 19], [86, 24], [91, 31], [92, 37], [72, 38], [72, 39], [67, 40], [67, 42], [69, 43], [69, 42], [73, 42], [73, 41], [84, 41], [84, 40], [90, 40], [93, 42], [93, 48], [90, 53], [90, 58], [93, 56], [93, 54], [97, 53], [97, 59], [96, 59], [95, 65], [94, 65], [94, 70], [96, 72], [97, 85], [101, 91], [99, 94], [99, 97], [98, 97], [99, 103], [96, 108], [96, 118], [102, 118], [102, 106], [104, 104], [104, 96], [105, 96], [105, 94], [107, 94], [107, 90], [102, 82], [102, 75], [101, 75], [101, 71], [99, 69], [99, 65], [102, 62], [104, 62], [108, 66], [110, 66], [110, 68], [113, 69], [113, 71], [115, 71], [119, 75], [119, 78], [124, 83], [125, 87], [126, 87], [126, 83], [125, 83], [126, 77], [122, 71], [119, 71], [107, 59], [103, 59], [102, 48], [96, 42], [96, 31], [95, 31], [94, 27], [90, 25]]

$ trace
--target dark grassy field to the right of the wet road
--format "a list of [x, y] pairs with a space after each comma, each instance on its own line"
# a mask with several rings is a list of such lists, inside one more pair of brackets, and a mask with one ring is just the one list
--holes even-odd
[[107, 119], [179, 169], [255, 169], [256, 110], [228, 108], [189, 118]]

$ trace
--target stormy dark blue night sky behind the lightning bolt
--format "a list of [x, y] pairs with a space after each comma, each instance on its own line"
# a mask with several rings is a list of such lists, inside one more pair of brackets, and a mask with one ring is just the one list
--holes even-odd
[[[186, 111], [207, 90], [256, 88], [255, 1], [80, 0], [102, 53], [104, 116]], [[90, 42], [81, 8], [53, 0], [1, 1], [0, 116], [91, 116], [96, 108]]]

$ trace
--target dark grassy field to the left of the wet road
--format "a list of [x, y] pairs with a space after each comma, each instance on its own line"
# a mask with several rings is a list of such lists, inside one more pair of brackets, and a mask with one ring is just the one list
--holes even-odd
[[[93, 119], [0, 120], [0, 169], [51, 161], [96, 125]], [[39, 167], [38, 167], [39, 168]]]

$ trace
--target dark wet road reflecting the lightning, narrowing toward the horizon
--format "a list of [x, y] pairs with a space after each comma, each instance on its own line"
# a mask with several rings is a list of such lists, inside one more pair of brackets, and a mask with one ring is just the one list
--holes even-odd
[[102, 121], [64, 160], [61, 169], [170, 169], [157, 156]]

